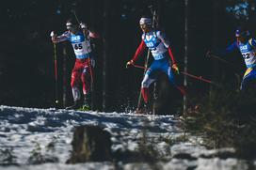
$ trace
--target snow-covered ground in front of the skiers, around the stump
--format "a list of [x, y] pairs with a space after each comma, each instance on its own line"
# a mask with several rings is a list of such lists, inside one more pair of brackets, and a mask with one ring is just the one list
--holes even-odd
[[[74, 128], [81, 125], [101, 126], [109, 131], [113, 152], [139, 151], [144, 141], [161, 159], [154, 163], [66, 164]], [[232, 155], [232, 149], [207, 150], [200, 142], [200, 137], [184, 135], [181, 121], [174, 116], [0, 106], [0, 169], [248, 169], [246, 161], [223, 156]], [[41, 160], [45, 163], [39, 163]], [[255, 167], [255, 163], [251, 166]]]

